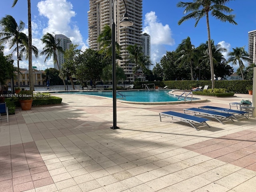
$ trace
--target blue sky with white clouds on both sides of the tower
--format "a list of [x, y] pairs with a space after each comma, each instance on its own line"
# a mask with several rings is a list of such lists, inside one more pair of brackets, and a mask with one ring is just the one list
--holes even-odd
[[[189, 2], [192, 0], [184, 0]], [[157, 2], [157, 3], [156, 3]], [[143, 0], [143, 32], [151, 36], [151, 60], [159, 62], [166, 51], [175, 50], [188, 36], [194, 46], [207, 41], [206, 18], [202, 18], [195, 28], [195, 20], [189, 20], [178, 25], [178, 20], [184, 16], [183, 8], [177, 8], [179, 0]], [[18, 0], [14, 8], [12, 0], [6, 0], [0, 7], [0, 18], [9, 14], [16, 22], [22, 20], [27, 32], [27, 1]], [[46, 33], [64, 34], [80, 48], [88, 48], [87, 11], [89, 0], [31, 0], [32, 6], [32, 44], [42, 51], [40, 38]], [[245, 46], [248, 50], [248, 32], [256, 30], [256, 1], [234, 0], [227, 4], [236, 15], [238, 25], [220, 22], [210, 17], [211, 38], [215, 44], [221, 44], [232, 51], [232, 48]], [[6, 46], [5, 54], [10, 54]], [[226, 55], [226, 53], [224, 54]], [[15, 58], [15, 53], [14, 53]], [[44, 70], [53, 67], [53, 61], [44, 63], [45, 56], [33, 58], [33, 66]], [[22, 68], [28, 68], [28, 62], [20, 62]], [[236, 70], [238, 66], [233, 66]]]

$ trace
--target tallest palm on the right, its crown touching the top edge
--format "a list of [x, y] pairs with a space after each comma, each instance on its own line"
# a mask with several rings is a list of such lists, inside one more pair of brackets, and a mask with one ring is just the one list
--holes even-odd
[[[231, 13], [233, 10], [225, 6], [226, 3], [231, 0], [193, 0], [193, 2], [178, 2], [177, 7], [185, 8], [184, 14], [188, 13], [186, 16], [182, 17], [178, 21], [178, 25], [186, 20], [194, 18], [196, 20], [195, 27], [197, 26], [199, 20], [206, 16], [206, 26], [208, 32], [208, 49], [210, 57], [210, 68], [211, 68], [211, 78], [212, 78], [212, 89], [214, 89], [214, 67], [212, 60], [212, 47], [211, 47], [211, 36], [210, 36], [210, 25], [209, 25], [209, 12], [211, 15], [222, 22], [230, 22], [231, 24], [237, 25], [234, 21], [235, 15], [226, 15], [224, 13]], [[190, 12], [190, 13], [189, 13]]]

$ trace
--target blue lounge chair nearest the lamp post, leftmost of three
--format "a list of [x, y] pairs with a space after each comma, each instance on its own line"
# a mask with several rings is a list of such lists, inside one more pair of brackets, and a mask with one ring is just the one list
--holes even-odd
[[161, 122], [162, 122], [162, 118], [164, 118], [164, 117], [171, 118], [172, 120], [186, 122], [186, 123], [190, 124], [196, 130], [198, 130], [198, 127], [202, 126], [202, 125], [207, 125], [208, 127], [210, 127], [206, 123], [206, 121], [209, 121], [209, 119], [202, 118], [202, 117], [196, 117], [196, 116], [192, 116], [192, 115], [188, 115], [188, 114], [184, 114], [184, 113], [166, 111], [166, 112], [159, 113], [159, 116], [160, 116]]

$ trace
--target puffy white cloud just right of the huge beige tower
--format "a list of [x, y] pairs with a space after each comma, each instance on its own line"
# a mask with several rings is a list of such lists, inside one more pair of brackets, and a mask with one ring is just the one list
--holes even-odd
[[151, 61], [152, 64], [155, 64], [166, 54], [165, 46], [172, 46], [175, 44], [175, 41], [172, 38], [170, 26], [158, 22], [155, 12], [146, 13], [144, 22], [143, 33], [150, 35]]

